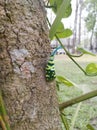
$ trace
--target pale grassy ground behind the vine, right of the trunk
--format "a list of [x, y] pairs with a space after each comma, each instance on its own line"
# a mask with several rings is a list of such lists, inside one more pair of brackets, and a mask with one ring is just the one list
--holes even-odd
[[[97, 63], [97, 56], [83, 56], [75, 58], [75, 60], [85, 68], [90, 62]], [[58, 91], [59, 102], [64, 102], [83, 93], [92, 90], [97, 90], [97, 76], [87, 77], [83, 72], [65, 55], [57, 55], [55, 57], [56, 74], [67, 77], [74, 82], [77, 87], [67, 87], [60, 85]], [[69, 124], [76, 111], [77, 105], [66, 108], [65, 114]], [[75, 128], [72, 130], [89, 130], [86, 128], [87, 124], [92, 124], [97, 130], [97, 97], [82, 102], [79, 114], [76, 119]]]

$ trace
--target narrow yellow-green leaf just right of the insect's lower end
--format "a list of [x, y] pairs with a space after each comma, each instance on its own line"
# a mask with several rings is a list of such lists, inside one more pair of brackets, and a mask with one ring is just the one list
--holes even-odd
[[56, 80], [57, 80], [57, 82], [62, 83], [68, 87], [75, 86], [75, 84], [72, 81], [68, 80], [67, 78], [65, 78], [63, 76], [57, 76]]

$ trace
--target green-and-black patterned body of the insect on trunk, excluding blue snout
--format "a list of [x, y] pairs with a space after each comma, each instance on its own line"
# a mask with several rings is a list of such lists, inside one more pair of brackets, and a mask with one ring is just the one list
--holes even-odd
[[46, 70], [46, 80], [47, 81], [52, 81], [56, 78], [54, 56], [53, 55], [50, 56], [50, 59], [46, 65], [45, 70]]

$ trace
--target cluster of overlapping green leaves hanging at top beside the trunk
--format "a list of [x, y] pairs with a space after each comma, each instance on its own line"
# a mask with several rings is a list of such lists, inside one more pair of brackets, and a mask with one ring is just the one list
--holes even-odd
[[72, 12], [71, 0], [50, 0], [50, 6], [53, 12], [56, 14], [56, 18], [50, 28], [50, 39], [53, 39], [55, 34], [59, 38], [66, 38], [72, 35], [72, 31], [68, 28], [64, 28], [61, 22], [62, 18], [67, 18]]

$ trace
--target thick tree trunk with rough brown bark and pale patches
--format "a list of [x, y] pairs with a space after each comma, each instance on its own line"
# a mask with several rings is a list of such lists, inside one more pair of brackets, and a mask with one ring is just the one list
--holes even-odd
[[42, 0], [0, 0], [0, 90], [11, 130], [61, 130]]

